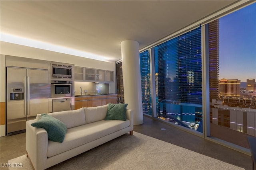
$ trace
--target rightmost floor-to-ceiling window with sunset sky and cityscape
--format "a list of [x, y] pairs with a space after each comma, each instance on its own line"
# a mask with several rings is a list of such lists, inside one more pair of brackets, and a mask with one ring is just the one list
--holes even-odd
[[256, 136], [256, 4], [209, 23], [210, 135]]

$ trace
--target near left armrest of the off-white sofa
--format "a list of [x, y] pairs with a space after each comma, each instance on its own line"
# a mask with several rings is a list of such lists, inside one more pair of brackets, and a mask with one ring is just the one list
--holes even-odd
[[36, 119], [26, 122], [26, 151], [34, 169], [46, 169], [48, 136], [43, 128], [31, 126]]

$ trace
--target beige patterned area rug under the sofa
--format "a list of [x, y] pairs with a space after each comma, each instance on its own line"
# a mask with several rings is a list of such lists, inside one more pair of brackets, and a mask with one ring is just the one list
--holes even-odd
[[[26, 155], [8, 160], [32, 169]], [[128, 133], [48, 170], [244, 170], [238, 166], [193, 152], [158, 139]]]

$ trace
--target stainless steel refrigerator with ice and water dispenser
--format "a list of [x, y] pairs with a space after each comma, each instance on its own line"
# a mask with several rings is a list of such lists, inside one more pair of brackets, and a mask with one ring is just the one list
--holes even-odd
[[7, 135], [24, 132], [26, 121], [48, 113], [48, 70], [7, 68]]

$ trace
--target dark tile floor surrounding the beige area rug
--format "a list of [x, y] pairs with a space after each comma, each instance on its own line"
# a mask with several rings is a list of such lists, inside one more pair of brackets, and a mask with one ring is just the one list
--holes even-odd
[[[161, 130], [161, 128], [166, 130]], [[147, 116], [144, 116], [142, 125], [134, 125], [134, 131], [240, 166], [246, 170], [252, 170], [250, 156], [166, 125]], [[7, 163], [8, 160], [24, 154], [26, 154], [25, 133], [0, 138], [1, 170], [8, 170], [8, 168], [3, 167], [4, 163]]]

